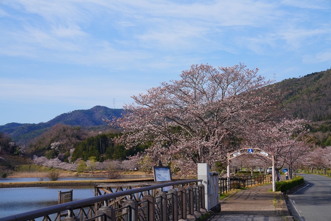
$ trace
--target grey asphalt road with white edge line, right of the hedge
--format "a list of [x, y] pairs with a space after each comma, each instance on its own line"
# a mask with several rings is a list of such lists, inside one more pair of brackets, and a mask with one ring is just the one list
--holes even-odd
[[297, 213], [300, 221], [331, 221], [331, 178], [314, 174], [300, 176], [307, 185], [288, 195], [294, 215]]

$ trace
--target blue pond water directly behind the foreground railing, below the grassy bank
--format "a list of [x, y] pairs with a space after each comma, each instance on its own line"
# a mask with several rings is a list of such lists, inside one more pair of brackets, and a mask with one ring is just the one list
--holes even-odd
[[73, 189], [73, 200], [94, 197], [91, 187], [23, 187], [0, 188], [0, 217], [56, 205], [58, 191]]

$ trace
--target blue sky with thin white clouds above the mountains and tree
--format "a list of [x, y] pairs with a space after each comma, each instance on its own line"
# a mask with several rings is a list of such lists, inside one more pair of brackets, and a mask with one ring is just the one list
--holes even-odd
[[122, 108], [192, 64], [239, 62], [276, 81], [330, 68], [331, 1], [0, 0], [0, 125]]

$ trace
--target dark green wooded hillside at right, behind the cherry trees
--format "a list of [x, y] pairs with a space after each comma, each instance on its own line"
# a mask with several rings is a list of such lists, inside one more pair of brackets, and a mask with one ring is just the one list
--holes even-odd
[[274, 85], [289, 91], [282, 104], [294, 117], [314, 122], [331, 120], [330, 69], [282, 80]]

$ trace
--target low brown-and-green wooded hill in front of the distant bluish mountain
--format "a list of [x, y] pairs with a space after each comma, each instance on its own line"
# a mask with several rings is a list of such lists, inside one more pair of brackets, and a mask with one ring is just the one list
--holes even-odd
[[[75, 148], [73, 160], [83, 158], [86, 161], [91, 156], [100, 160], [100, 156], [105, 153], [107, 159], [110, 156], [115, 159], [126, 158], [125, 148], [118, 147], [112, 141], [112, 138], [119, 135], [119, 130], [109, 127], [93, 128], [95, 130], [56, 124], [48, 131], [30, 140], [26, 145], [25, 155], [29, 157], [33, 155], [45, 156], [47, 159], [58, 157], [62, 161], [68, 161], [70, 150]], [[117, 153], [119, 149], [122, 150], [120, 152], [123, 152], [123, 155]]]

